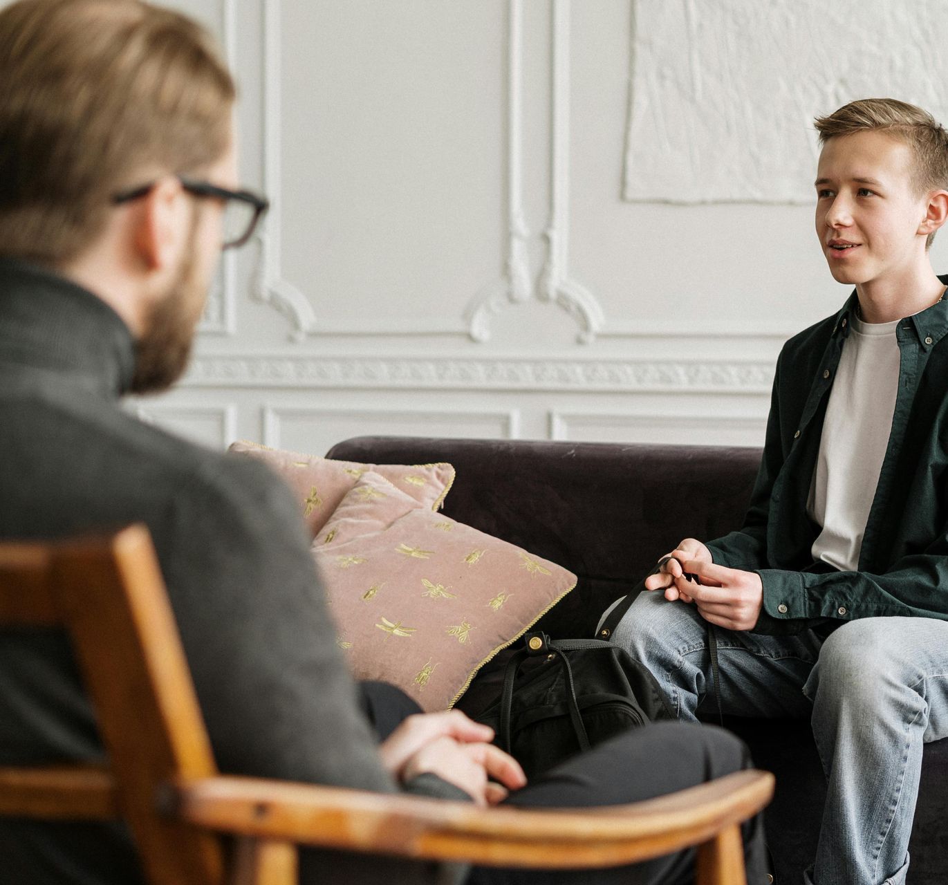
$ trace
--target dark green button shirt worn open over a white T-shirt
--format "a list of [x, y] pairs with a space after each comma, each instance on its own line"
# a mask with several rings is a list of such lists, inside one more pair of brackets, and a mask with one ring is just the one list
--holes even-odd
[[[939, 279], [948, 283], [948, 276]], [[744, 525], [708, 544], [715, 562], [760, 575], [758, 632], [831, 629], [884, 615], [948, 620], [948, 300], [896, 328], [899, 389], [859, 568], [813, 562], [821, 527], [807, 514], [807, 500], [857, 307], [853, 292], [838, 314], [784, 345]]]

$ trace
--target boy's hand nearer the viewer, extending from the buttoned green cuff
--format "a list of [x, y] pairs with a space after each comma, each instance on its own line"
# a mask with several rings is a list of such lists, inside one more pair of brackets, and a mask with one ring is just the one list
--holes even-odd
[[686, 561], [684, 570], [696, 575], [699, 583], [677, 577], [675, 586], [683, 599], [687, 595], [694, 600], [705, 621], [729, 630], [754, 629], [764, 601], [763, 584], [756, 571], [726, 569], [701, 559]]

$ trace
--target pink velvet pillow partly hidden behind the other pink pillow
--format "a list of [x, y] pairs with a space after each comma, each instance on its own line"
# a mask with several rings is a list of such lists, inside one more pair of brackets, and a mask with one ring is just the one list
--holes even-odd
[[358, 464], [286, 452], [243, 440], [231, 443], [228, 451], [264, 461], [280, 474], [300, 501], [300, 513], [313, 537], [366, 471], [372, 470], [388, 479], [408, 493], [417, 506], [429, 510], [440, 509], [454, 482], [454, 468], [445, 463]]

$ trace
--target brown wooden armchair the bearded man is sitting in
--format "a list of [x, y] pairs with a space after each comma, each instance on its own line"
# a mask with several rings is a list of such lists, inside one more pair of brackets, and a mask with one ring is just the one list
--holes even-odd
[[[741, 771], [647, 802], [478, 809], [218, 773], [147, 530], [0, 544], [0, 625], [64, 625], [109, 768], [0, 768], [0, 815], [123, 818], [154, 885], [295, 882], [296, 846], [525, 867], [610, 866], [698, 847], [701, 885], [744, 885], [739, 823], [774, 778]], [[224, 848], [222, 836], [236, 839]]]

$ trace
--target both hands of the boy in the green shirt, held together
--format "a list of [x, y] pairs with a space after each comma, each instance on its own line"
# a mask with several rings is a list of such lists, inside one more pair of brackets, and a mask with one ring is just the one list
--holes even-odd
[[[711, 551], [694, 538], [685, 538], [668, 556], [662, 569], [646, 578], [647, 590], [664, 589], [667, 600], [694, 603], [708, 623], [729, 630], [754, 629], [764, 599], [756, 571], [716, 565]], [[689, 581], [685, 573], [697, 580]]]

